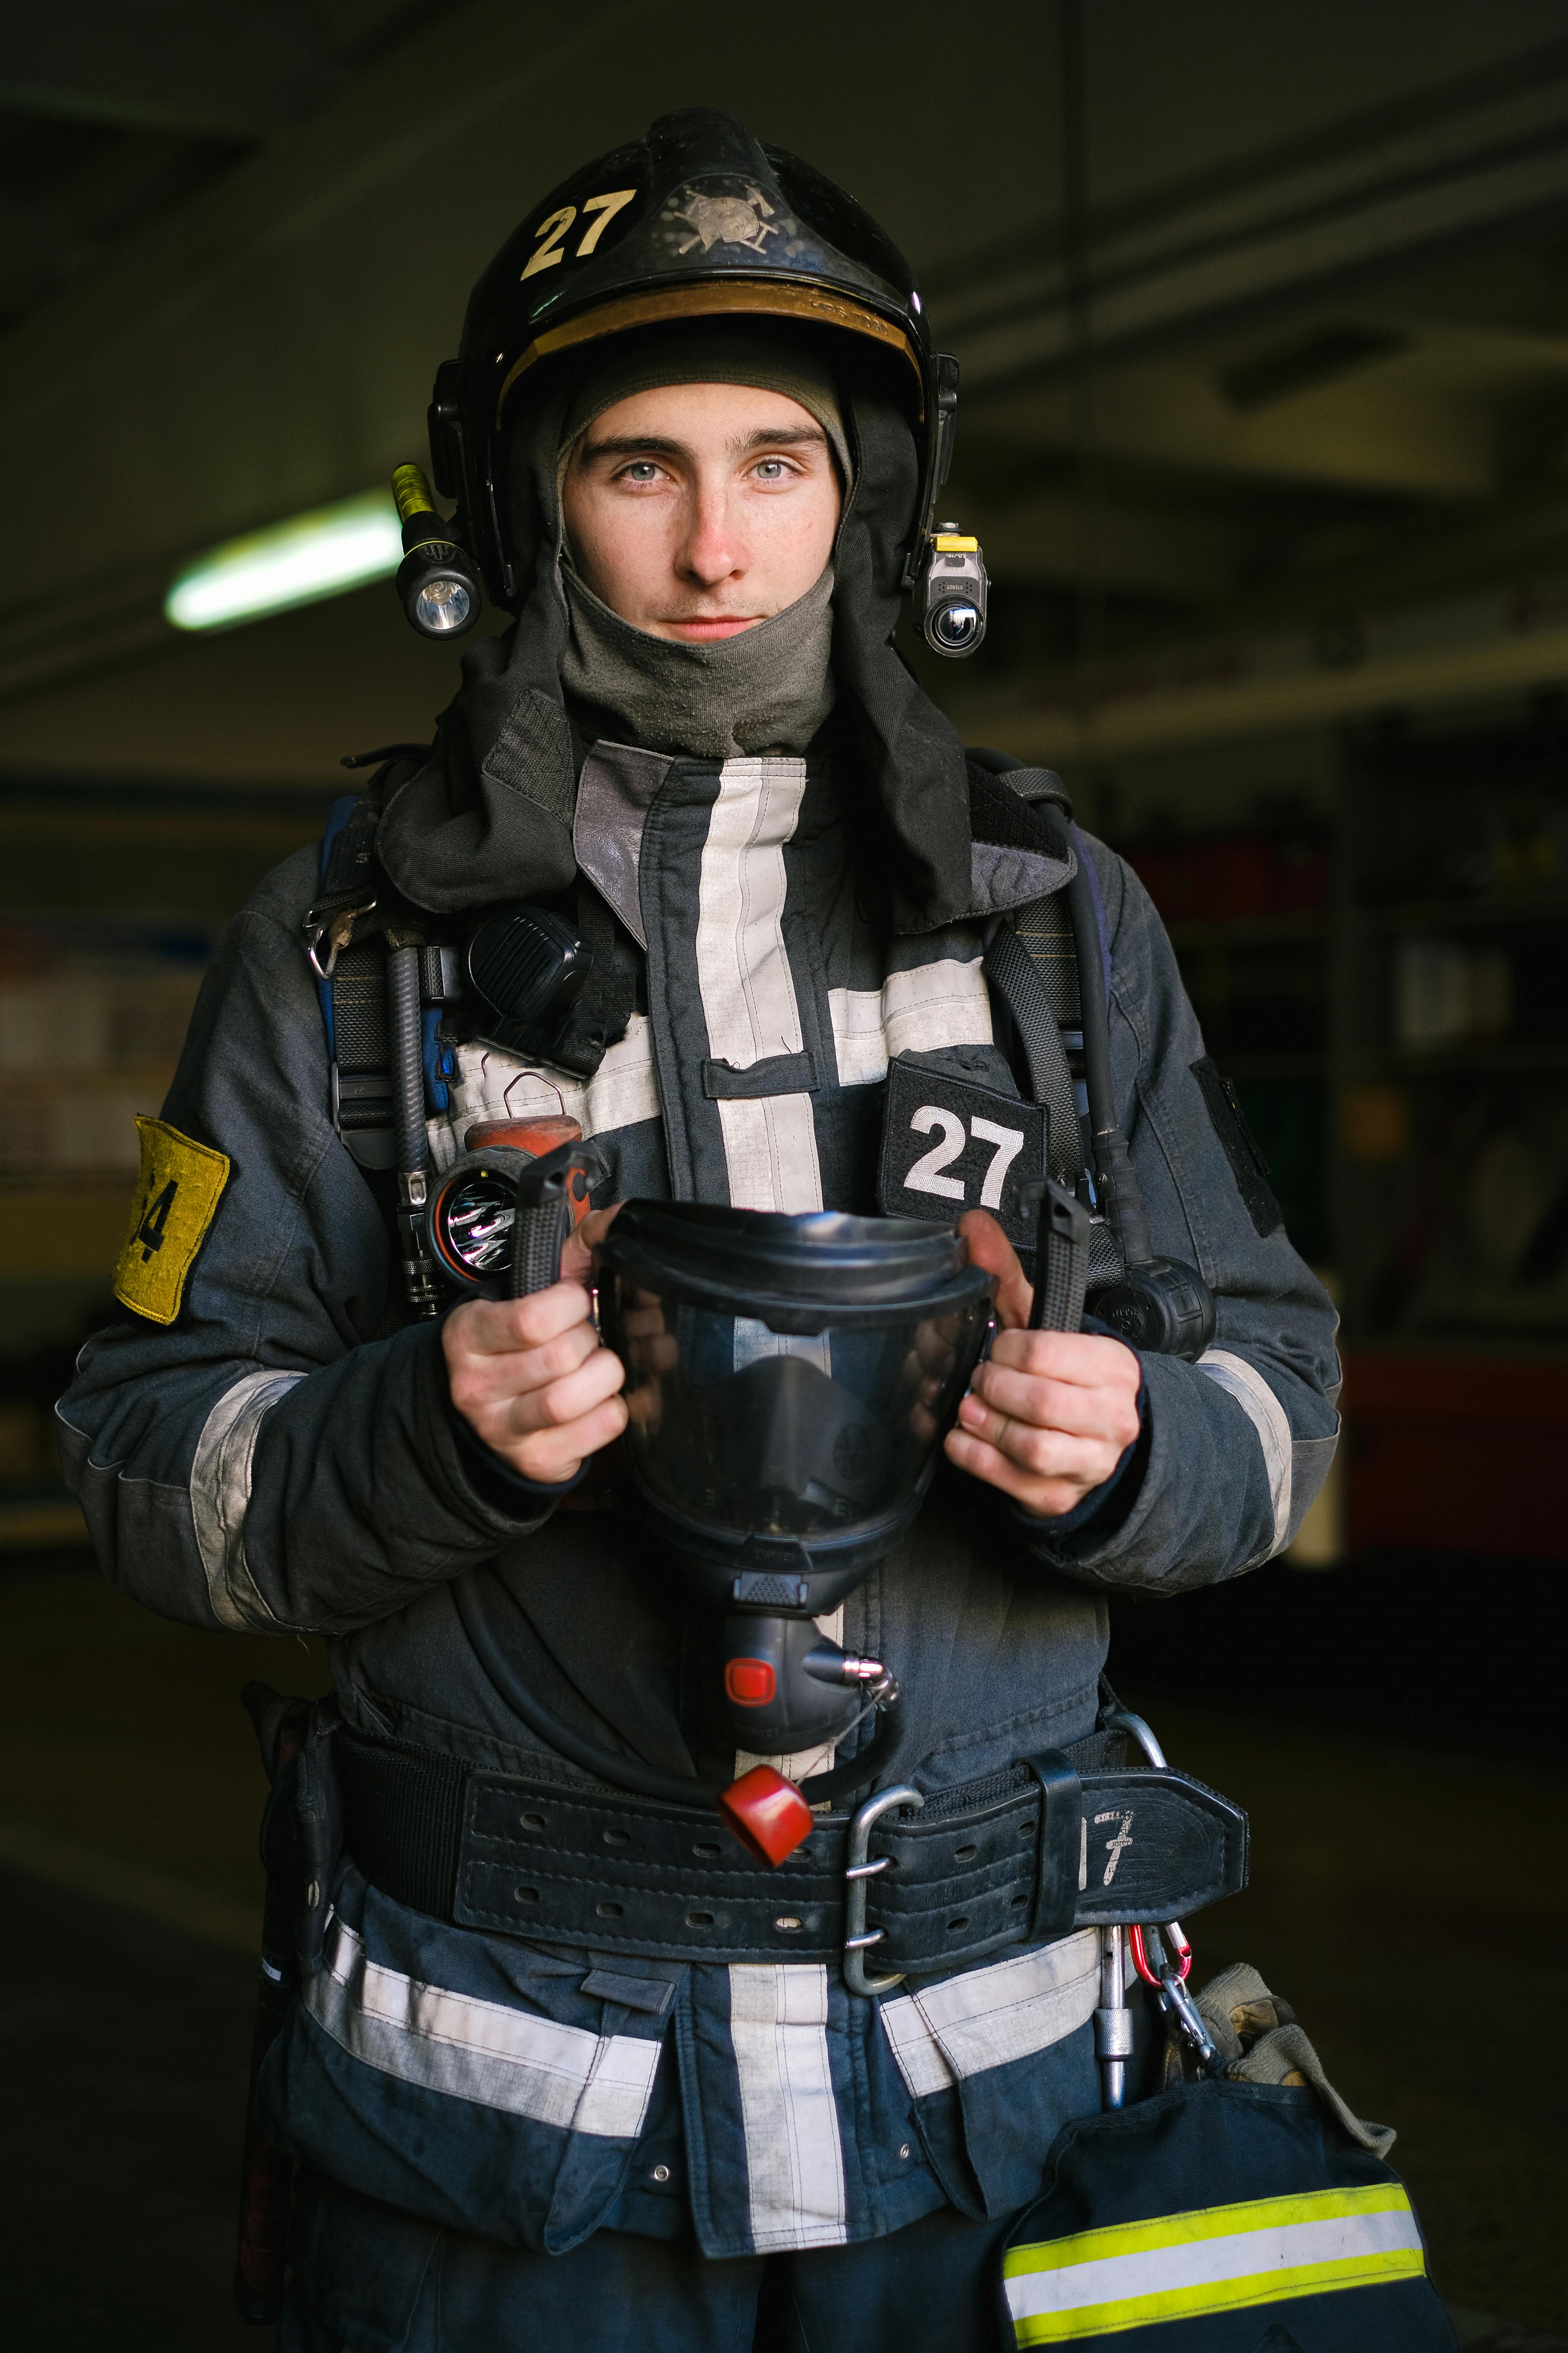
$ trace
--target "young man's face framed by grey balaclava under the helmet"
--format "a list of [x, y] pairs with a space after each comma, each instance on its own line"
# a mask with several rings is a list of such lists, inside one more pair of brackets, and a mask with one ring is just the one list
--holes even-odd
[[816, 416], [748, 384], [618, 400], [576, 442], [562, 501], [592, 593], [686, 645], [795, 605], [839, 527], [839, 475]]

